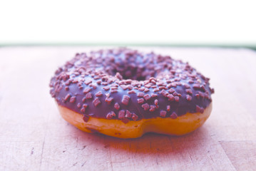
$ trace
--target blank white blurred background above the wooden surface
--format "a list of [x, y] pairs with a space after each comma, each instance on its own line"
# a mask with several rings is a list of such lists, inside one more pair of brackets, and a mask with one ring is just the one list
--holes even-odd
[[255, 1], [0, 1], [0, 46], [256, 48]]

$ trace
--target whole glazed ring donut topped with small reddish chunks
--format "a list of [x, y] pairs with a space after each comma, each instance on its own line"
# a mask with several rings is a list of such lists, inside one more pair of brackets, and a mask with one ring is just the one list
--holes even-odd
[[64, 120], [87, 133], [185, 135], [212, 110], [209, 78], [170, 56], [115, 48], [77, 53], [51, 78]]

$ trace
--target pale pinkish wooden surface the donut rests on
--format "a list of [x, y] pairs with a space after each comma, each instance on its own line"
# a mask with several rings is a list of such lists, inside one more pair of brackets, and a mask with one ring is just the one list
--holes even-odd
[[256, 170], [255, 51], [138, 48], [189, 61], [210, 77], [213, 112], [183, 137], [121, 140], [69, 125], [49, 94], [58, 66], [98, 48], [0, 48], [0, 170]]

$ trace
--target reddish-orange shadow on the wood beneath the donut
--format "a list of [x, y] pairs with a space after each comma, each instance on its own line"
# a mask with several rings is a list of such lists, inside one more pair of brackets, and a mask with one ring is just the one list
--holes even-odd
[[127, 152], [146, 155], [182, 154], [183, 151], [199, 150], [207, 142], [205, 139], [210, 137], [208, 130], [204, 127], [180, 137], [146, 133], [135, 139], [113, 138], [100, 133], [84, 133], [78, 129], [75, 132], [81, 144], [86, 145], [91, 142], [93, 147], [110, 151], [112, 155], [121, 153], [125, 155]]

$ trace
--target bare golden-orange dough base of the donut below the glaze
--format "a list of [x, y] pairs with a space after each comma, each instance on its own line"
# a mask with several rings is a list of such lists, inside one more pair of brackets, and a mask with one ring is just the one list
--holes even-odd
[[145, 133], [185, 135], [200, 128], [209, 118], [212, 108], [213, 103], [210, 103], [203, 113], [186, 113], [175, 119], [157, 117], [123, 123], [117, 119], [108, 120], [91, 116], [85, 122], [84, 115], [58, 105], [62, 118], [79, 130], [86, 133], [102, 133], [116, 138], [139, 138]]

